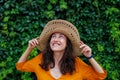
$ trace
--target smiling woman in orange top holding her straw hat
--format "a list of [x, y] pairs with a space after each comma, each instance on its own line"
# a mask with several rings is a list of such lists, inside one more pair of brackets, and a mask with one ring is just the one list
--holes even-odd
[[[35, 47], [41, 53], [27, 60]], [[80, 53], [91, 66], [77, 57]], [[65, 20], [48, 22], [41, 35], [29, 41], [16, 67], [34, 72], [38, 80], [103, 80], [106, 77], [106, 71], [93, 58], [91, 48], [80, 40], [76, 27]]]

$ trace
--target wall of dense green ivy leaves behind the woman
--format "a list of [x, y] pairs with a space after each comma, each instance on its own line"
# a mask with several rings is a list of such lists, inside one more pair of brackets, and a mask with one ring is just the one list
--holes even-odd
[[[0, 80], [36, 79], [15, 64], [28, 41], [53, 19], [72, 22], [107, 70], [106, 80], [119, 80], [120, 0], [0, 0]], [[37, 54], [35, 49], [30, 57]]]

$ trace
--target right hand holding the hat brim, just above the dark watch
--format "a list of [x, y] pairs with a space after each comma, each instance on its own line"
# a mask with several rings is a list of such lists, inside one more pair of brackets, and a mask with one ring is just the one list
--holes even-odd
[[92, 55], [91, 48], [89, 46], [87, 46], [86, 44], [84, 44], [82, 41], [80, 41], [80, 48], [81, 48], [81, 53], [85, 57], [90, 57]]

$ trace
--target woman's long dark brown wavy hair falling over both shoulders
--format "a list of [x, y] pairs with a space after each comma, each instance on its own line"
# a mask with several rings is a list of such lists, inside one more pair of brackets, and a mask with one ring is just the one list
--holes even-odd
[[[50, 48], [50, 40], [51, 37], [48, 40], [45, 52], [43, 52], [42, 62], [40, 64], [41, 68], [46, 71], [55, 67], [54, 54]], [[65, 52], [59, 62], [59, 67], [62, 74], [72, 74], [75, 71], [75, 54], [73, 53], [72, 43], [68, 38]]]

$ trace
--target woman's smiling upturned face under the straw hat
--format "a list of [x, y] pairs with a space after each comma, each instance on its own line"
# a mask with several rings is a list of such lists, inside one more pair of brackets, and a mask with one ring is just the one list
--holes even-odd
[[62, 33], [52, 34], [50, 40], [50, 47], [53, 52], [62, 52], [65, 51], [67, 45], [67, 37]]

